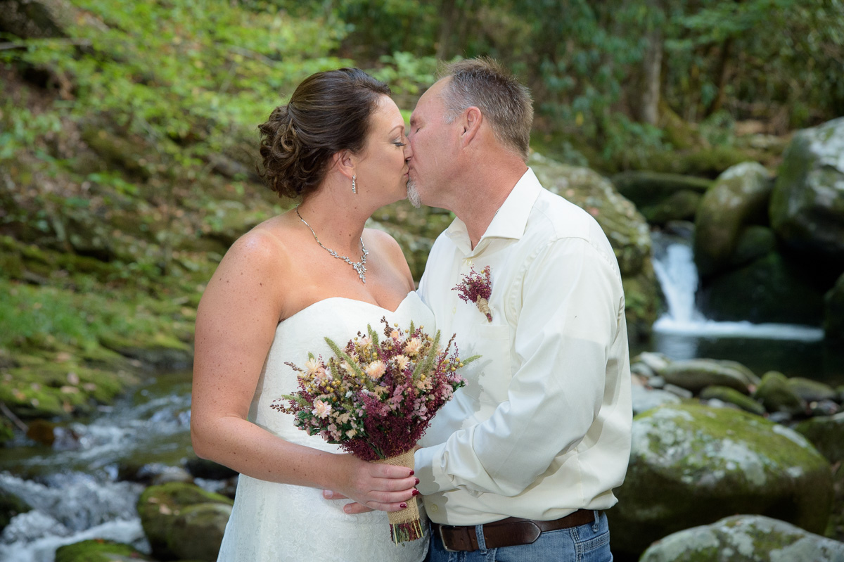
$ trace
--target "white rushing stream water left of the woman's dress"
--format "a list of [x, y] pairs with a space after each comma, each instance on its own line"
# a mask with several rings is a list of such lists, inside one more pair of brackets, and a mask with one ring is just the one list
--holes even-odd
[[0, 562], [53, 562], [57, 548], [91, 538], [149, 553], [135, 507], [144, 485], [118, 481], [117, 467], [127, 459], [154, 466], [187, 455], [190, 404], [189, 374], [162, 375], [86, 423], [58, 427], [49, 449], [23, 437], [7, 447], [0, 490], [32, 510], [0, 532]]

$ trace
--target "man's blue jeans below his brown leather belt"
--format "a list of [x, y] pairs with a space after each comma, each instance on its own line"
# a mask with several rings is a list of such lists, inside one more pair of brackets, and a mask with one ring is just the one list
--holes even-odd
[[[596, 512], [597, 513], [597, 512]], [[484, 534], [478, 530], [479, 541]], [[435, 532], [430, 533], [430, 562], [612, 562], [609, 552], [609, 526], [607, 516], [600, 514], [597, 521], [547, 531], [536, 542], [511, 547], [480, 548], [473, 552], [448, 552]]]

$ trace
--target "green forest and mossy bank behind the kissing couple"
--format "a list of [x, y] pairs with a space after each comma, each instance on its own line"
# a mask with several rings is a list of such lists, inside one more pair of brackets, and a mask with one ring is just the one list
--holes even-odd
[[[844, 115], [841, 0], [2, 0], [0, 403], [83, 412], [189, 365], [216, 263], [292, 204], [259, 186], [256, 126], [302, 78], [365, 68], [407, 117], [479, 55], [532, 89], [533, 149], [605, 176], [773, 170]], [[450, 218], [382, 219], [416, 229], [419, 278]]]

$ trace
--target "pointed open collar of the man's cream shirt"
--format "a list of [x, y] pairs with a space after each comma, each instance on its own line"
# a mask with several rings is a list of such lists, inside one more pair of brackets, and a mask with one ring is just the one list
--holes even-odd
[[[492, 222], [486, 227], [484, 235], [480, 237], [478, 245], [475, 246], [475, 250], [477, 251], [479, 247], [483, 246], [483, 241], [488, 238], [509, 238], [512, 240], [522, 238], [527, 226], [527, 216], [533, 208], [533, 203], [536, 203], [536, 198], [539, 197], [541, 190], [542, 186], [533, 170], [527, 168], [524, 175], [516, 182], [516, 186], [513, 186], [510, 195], [498, 208]], [[446, 236], [464, 254], [472, 253], [468, 230], [461, 219], [452, 221], [452, 224], [446, 229]]]

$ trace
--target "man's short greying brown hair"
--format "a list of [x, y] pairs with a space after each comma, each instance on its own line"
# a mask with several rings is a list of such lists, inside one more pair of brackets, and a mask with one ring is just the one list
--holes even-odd
[[490, 120], [500, 143], [527, 162], [533, 125], [530, 90], [498, 62], [486, 57], [452, 62], [441, 76], [451, 77], [441, 91], [445, 122], [454, 122], [463, 111], [475, 106]]

